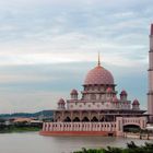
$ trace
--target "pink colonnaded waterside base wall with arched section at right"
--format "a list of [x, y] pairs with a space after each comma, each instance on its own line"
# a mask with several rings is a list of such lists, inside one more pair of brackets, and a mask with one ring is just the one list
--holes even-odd
[[83, 133], [87, 132], [89, 134], [94, 134], [94, 132], [98, 132], [101, 136], [122, 136], [123, 134], [123, 126], [134, 125], [139, 126], [141, 129], [145, 129], [146, 127], [146, 118], [145, 117], [117, 117], [116, 121], [109, 122], [45, 122], [43, 126], [43, 134], [55, 136], [60, 134], [72, 134], [72, 136], [83, 136]]

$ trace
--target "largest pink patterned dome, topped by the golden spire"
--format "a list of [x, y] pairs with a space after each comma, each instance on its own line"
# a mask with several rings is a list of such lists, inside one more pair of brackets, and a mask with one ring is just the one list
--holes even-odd
[[108, 70], [97, 66], [87, 73], [84, 85], [87, 84], [114, 84], [114, 78]]

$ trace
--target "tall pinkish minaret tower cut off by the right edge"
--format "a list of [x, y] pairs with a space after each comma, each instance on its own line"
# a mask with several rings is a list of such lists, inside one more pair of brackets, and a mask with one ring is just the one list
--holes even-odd
[[153, 24], [150, 33], [148, 113], [153, 122]]

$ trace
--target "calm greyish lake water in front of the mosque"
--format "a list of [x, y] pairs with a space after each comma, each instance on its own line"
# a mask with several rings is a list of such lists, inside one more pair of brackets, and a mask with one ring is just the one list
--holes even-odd
[[[82, 148], [126, 146], [145, 140], [108, 137], [43, 137], [38, 132], [0, 134], [0, 153], [70, 153]], [[153, 141], [150, 141], [153, 142]]]

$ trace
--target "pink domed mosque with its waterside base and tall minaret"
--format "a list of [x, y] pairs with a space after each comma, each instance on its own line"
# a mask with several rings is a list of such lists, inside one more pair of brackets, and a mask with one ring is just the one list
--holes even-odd
[[60, 98], [54, 110], [54, 121], [44, 122], [44, 136], [122, 136], [126, 127], [141, 129], [153, 120], [153, 24], [150, 35], [150, 68], [148, 114], [140, 109], [138, 99], [128, 99], [127, 91], [118, 95], [110, 71], [98, 62], [90, 70], [83, 83], [81, 98], [72, 90], [70, 99]]

